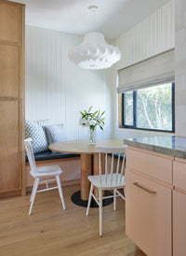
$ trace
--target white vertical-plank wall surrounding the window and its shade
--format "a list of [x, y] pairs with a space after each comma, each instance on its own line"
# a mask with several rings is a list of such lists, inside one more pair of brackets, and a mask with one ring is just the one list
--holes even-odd
[[155, 135], [152, 132], [118, 128], [117, 70], [174, 48], [173, 0], [116, 38], [114, 44], [121, 50], [122, 58], [113, 66], [113, 137]]

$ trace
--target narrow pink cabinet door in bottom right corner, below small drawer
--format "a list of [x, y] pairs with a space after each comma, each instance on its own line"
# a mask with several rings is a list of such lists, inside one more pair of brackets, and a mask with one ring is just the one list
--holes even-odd
[[173, 255], [186, 255], [186, 192], [173, 192]]

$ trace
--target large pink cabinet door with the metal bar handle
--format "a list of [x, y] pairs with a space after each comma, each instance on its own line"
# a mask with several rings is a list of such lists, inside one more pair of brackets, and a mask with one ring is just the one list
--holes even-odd
[[150, 256], [171, 256], [171, 190], [126, 170], [126, 235]]

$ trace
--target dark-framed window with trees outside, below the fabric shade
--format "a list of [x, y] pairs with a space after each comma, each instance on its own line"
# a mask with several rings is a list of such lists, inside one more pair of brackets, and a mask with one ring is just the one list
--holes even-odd
[[122, 94], [122, 127], [175, 131], [175, 84], [166, 83]]

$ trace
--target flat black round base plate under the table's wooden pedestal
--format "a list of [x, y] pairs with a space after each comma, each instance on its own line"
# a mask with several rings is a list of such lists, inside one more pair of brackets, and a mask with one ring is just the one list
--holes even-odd
[[[105, 191], [105, 196], [108, 196], [108, 195], [113, 195], [113, 193]], [[87, 206], [87, 202], [88, 202], [86, 200], [82, 200], [81, 199], [81, 192], [80, 191], [74, 192], [73, 195], [71, 196], [71, 200], [73, 201], [73, 203], [75, 205], [83, 206], [83, 207], [86, 207]], [[110, 205], [112, 203], [113, 203], [113, 198], [103, 199], [102, 206], [108, 206], [108, 205]], [[98, 207], [98, 205], [95, 202], [94, 198], [92, 198], [90, 207], [91, 208]]]

